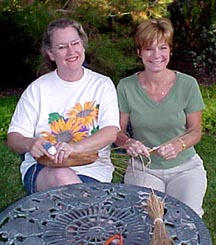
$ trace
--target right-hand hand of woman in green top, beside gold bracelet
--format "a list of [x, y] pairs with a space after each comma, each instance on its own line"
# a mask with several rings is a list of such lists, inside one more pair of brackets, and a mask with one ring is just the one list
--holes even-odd
[[182, 151], [182, 146], [178, 141], [163, 144], [157, 150], [158, 155], [163, 157], [165, 160], [170, 160], [176, 158], [178, 154]]

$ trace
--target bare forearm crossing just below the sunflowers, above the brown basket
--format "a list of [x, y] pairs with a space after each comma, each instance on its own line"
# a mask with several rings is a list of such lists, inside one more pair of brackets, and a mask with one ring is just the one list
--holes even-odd
[[97, 151], [106, 145], [113, 143], [117, 137], [118, 128], [108, 126], [97, 131], [95, 134], [73, 144], [76, 152]]

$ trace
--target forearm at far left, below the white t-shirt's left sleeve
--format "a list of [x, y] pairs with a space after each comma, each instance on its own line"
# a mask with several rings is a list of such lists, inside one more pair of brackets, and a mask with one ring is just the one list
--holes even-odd
[[19, 154], [29, 152], [33, 141], [34, 138], [24, 137], [20, 133], [15, 132], [9, 133], [7, 137], [8, 147]]

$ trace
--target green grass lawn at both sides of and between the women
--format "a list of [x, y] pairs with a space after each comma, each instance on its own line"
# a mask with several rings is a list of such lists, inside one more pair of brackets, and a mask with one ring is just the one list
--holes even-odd
[[[17, 97], [0, 98], [0, 211], [5, 209], [16, 200], [26, 195], [19, 171], [20, 157], [11, 152], [6, 144], [6, 128], [8, 125], [12, 111], [14, 110]], [[208, 227], [212, 244], [216, 245], [216, 137], [212, 135], [203, 135], [203, 138], [196, 149], [204, 161], [205, 168], [208, 173], [208, 188], [204, 199], [203, 216], [204, 223]], [[116, 166], [113, 182], [121, 182], [122, 175], [125, 170], [125, 156], [112, 153], [112, 159]]]

